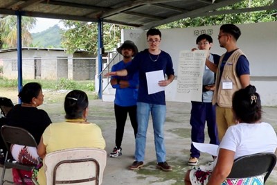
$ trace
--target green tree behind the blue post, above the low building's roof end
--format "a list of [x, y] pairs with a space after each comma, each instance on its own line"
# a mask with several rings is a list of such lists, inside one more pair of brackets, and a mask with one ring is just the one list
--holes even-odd
[[[67, 52], [74, 53], [82, 49], [90, 53], [97, 53], [97, 23], [63, 20], [63, 24], [65, 29], [62, 34], [62, 46], [67, 49]], [[103, 44], [105, 51], [111, 51], [120, 42], [120, 30], [123, 28], [128, 27], [115, 24], [103, 25]]]

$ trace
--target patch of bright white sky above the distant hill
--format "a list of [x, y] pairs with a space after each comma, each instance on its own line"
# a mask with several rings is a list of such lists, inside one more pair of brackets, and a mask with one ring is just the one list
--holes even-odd
[[47, 19], [47, 18], [36, 18], [37, 24], [35, 28], [30, 30], [30, 33], [38, 33], [44, 30], [47, 30], [49, 27], [54, 26], [55, 24], [59, 24], [60, 28], [62, 28], [62, 24], [59, 23], [60, 19]]

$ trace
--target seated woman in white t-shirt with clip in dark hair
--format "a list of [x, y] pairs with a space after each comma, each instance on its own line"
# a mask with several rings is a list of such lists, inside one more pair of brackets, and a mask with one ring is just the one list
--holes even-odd
[[[269, 123], [261, 121], [262, 107], [256, 88], [249, 85], [236, 91], [232, 105], [233, 116], [238, 124], [232, 125], [226, 131], [220, 143], [215, 168], [210, 172], [201, 169], [188, 170], [184, 179], [186, 185], [221, 185], [231, 172], [234, 159], [276, 151], [276, 132]], [[199, 174], [206, 175], [206, 178], [199, 177]]]

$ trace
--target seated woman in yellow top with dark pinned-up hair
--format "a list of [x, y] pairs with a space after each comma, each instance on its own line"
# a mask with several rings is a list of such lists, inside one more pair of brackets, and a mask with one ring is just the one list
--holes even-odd
[[[105, 148], [100, 127], [87, 121], [88, 105], [89, 100], [84, 91], [73, 90], [66, 95], [64, 100], [66, 121], [46, 127], [37, 148], [39, 157], [44, 158], [49, 152], [67, 148]], [[39, 170], [37, 181], [40, 185], [46, 184], [43, 168]]]

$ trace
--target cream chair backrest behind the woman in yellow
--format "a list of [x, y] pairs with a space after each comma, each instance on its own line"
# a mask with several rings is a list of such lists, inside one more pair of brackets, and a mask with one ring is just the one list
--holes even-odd
[[71, 148], [44, 158], [46, 184], [101, 184], [107, 152], [98, 148]]

